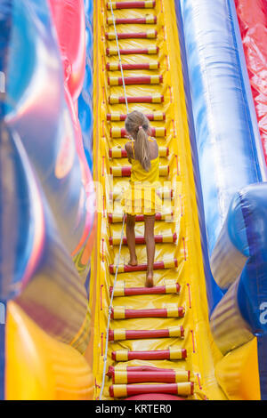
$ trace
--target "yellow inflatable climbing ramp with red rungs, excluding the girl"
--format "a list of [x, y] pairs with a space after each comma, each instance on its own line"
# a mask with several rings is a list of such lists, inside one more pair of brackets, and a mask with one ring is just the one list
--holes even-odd
[[[135, 8], [133, 7], [135, 4]], [[94, 12], [92, 256], [94, 399], [224, 399], [222, 358], [209, 330], [182, 62], [174, 2], [97, 2]], [[139, 6], [137, 9], [136, 6]], [[140, 8], [142, 6], [142, 8]], [[155, 226], [155, 286], [144, 287], [146, 248], [136, 219], [138, 266], [127, 266], [120, 197], [130, 173], [127, 111], [144, 112], [160, 152], [164, 210]], [[109, 327], [109, 331], [108, 330]], [[89, 353], [92, 351], [92, 355]]]

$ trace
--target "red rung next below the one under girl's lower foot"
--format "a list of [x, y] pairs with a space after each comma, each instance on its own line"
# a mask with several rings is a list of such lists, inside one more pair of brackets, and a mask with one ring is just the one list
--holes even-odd
[[178, 305], [163, 309], [125, 309], [125, 306], [116, 306], [111, 309], [112, 319], [183, 317], [184, 308]]

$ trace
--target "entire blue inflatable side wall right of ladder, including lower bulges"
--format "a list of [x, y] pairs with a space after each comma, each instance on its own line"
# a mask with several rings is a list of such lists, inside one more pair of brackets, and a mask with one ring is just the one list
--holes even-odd
[[226, 354], [257, 336], [266, 398], [266, 167], [234, 2], [181, 0], [176, 12], [199, 166], [195, 177], [203, 197], [198, 198], [200, 223], [204, 216], [206, 224], [203, 251], [212, 271], [206, 266], [214, 340]]

